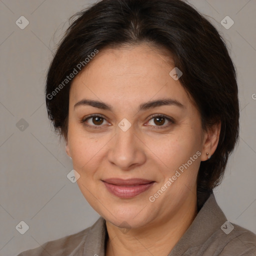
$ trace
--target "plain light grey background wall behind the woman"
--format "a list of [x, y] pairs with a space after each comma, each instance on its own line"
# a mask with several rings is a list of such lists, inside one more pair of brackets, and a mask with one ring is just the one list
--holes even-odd
[[[52, 51], [68, 18], [92, 2], [0, 0], [0, 255], [16, 255], [78, 232], [99, 216], [76, 183], [66, 177], [72, 163], [63, 141], [52, 131], [44, 103]], [[256, 232], [256, 1], [188, 2], [210, 16], [224, 36], [238, 72], [239, 145], [215, 196], [230, 222]], [[24, 29], [15, 24], [21, 15], [29, 21]], [[234, 21], [229, 29], [220, 23], [226, 15]], [[23, 235], [15, 228], [21, 220], [29, 226]]]

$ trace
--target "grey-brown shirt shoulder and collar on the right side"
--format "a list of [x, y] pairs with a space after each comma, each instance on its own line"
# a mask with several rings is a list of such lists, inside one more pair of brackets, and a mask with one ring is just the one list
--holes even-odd
[[229, 222], [212, 193], [170, 256], [255, 256], [256, 234]]

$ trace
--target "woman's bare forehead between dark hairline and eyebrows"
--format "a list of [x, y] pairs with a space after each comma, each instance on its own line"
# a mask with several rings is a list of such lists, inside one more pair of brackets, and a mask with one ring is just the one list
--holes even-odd
[[187, 105], [183, 87], [169, 75], [173, 68], [170, 54], [146, 43], [105, 48], [73, 79], [70, 102], [85, 97], [121, 106], [164, 96]]

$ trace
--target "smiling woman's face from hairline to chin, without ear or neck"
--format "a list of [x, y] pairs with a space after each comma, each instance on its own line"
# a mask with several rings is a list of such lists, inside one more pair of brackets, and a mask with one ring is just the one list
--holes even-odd
[[[152, 49], [144, 43], [101, 50], [70, 88], [66, 150], [77, 184], [121, 227], [186, 214], [206, 160], [199, 112], [169, 75], [171, 59]], [[169, 103], [149, 104], [163, 99]]]

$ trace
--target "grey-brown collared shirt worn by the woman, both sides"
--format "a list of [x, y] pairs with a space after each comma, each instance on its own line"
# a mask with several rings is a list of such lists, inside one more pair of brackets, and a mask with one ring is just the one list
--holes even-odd
[[[102, 217], [78, 233], [17, 256], [104, 256], [107, 231]], [[212, 193], [191, 225], [166, 256], [255, 256], [256, 235], [227, 221]]]

